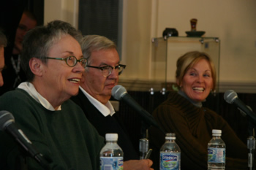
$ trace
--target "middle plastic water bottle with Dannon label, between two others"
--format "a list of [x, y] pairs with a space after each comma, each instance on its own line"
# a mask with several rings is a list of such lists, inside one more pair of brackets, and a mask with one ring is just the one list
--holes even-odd
[[160, 149], [160, 170], [181, 169], [181, 149], [175, 142], [174, 133], [167, 133]]

